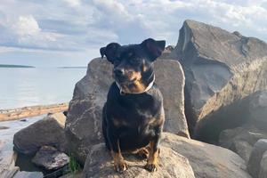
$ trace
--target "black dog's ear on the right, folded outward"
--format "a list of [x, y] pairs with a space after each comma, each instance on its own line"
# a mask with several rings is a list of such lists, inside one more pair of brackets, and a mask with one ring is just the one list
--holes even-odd
[[156, 41], [152, 38], [142, 42], [142, 47], [149, 54], [150, 60], [155, 61], [165, 49], [166, 41]]

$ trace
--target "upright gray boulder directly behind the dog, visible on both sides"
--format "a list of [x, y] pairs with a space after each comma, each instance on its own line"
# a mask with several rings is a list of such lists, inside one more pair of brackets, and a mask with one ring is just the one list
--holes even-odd
[[[69, 103], [65, 133], [69, 150], [77, 160], [85, 163], [91, 147], [103, 142], [101, 110], [107, 100], [112, 65], [105, 59], [94, 59], [88, 64], [86, 76], [75, 86]], [[155, 62], [156, 83], [163, 93], [166, 123], [164, 130], [190, 137], [184, 115], [184, 76], [178, 61]]]

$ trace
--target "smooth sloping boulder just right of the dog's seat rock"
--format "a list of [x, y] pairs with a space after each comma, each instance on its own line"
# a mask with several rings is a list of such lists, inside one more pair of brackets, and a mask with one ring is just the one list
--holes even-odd
[[246, 163], [236, 153], [205, 142], [163, 134], [161, 145], [189, 159], [196, 178], [247, 178]]

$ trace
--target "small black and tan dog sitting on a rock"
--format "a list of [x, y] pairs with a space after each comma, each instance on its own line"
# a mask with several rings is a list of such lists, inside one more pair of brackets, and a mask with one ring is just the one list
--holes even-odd
[[162, 94], [154, 85], [153, 62], [165, 49], [165, 41], [146, 39], [142, 44], [108, 44], [101, 48], [114, 65], [115, 82], [103, 108], [102, 131], [117, 172], [128, 166], [124, 151], [138, 150], [148, 158], [145, 166], [158, 170], [158, 144], [165, 115]]

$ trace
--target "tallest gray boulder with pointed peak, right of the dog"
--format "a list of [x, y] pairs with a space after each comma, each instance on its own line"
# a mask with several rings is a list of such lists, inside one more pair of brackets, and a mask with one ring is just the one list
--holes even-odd
[[[257, 38], [185, 20], [172, 55], [185, 73], [185, 113], [191, 133], [195, 125], [197, 132], [205, 130], [198, 123], [209, 120], [217, 139], [222, 130], [242, 124], [227, 116], [231, 103], [267, 89], [267, 44]], [[196, 135], [202, 141], [205, 137]]]

